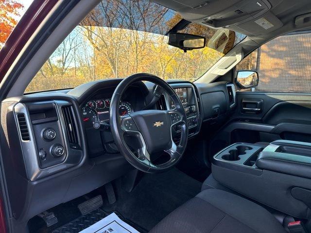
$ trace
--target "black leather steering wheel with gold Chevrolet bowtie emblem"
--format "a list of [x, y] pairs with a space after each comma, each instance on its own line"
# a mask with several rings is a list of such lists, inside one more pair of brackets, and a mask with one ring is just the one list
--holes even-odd
[[[119, 103], [124, 91], [133, 83], [149, 81], [162, 87], [175, 103], [172, 110], [142, 110], [120, 116]], [[154, 95], [159, 93], [154, 92]], [[181, 138], [176, 145], [172, 137], [172, 128], [179, 124]], [[138, 73], [131, 75], [119, 83], [110, 103], [110, 129], [120, 153], [137, 169], [156, 173], [166, 171], [181, 159], [188, 141], [187, 116], [184, 107], [173, 88], [159, 77], [151, 74]], [[134, 136], [135, 139], [128, 140]], [[127, 140], [126, 140], [127, 139]], [[136, 141], [137, 150], [127, 143]], [[131, 149], [131, 148], [132, 149]], [[167, 161], [154, 163], [153, 155], [166, 152]], [[134, 153], [135, 152], [135, 153]]]

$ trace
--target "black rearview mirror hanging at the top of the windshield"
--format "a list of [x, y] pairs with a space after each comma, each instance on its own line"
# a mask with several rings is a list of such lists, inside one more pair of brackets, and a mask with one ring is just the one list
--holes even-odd
[[204, 36], [186, 33], [170, 33], [168, 44], [177, 47], [185, 52], [187, 50], [202, 49], [205, 47], [206, 38]]

